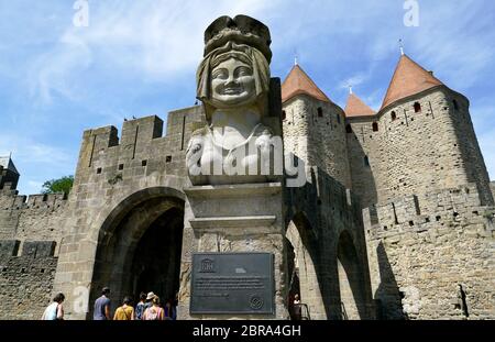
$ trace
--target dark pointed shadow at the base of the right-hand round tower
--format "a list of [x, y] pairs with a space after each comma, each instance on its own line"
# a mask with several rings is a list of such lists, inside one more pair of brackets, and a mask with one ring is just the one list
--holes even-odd
[[382, 320], [408, 319], [403, 311], [403, 296], [382, 242], [376, 247], [376, 256], [380, 267], [380, 285], [374, 296], [376, 300], [376, 318]]

